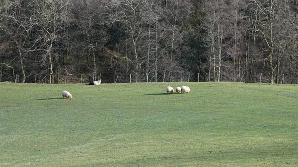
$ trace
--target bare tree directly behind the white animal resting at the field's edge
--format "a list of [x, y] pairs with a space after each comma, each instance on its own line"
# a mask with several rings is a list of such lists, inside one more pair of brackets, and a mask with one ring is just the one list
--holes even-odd
[[72, 0], [72, 3], [74, 4], [74, 15], [77, 18], [76, 26], [78, 27], [75, 36], [82, 37], [79, 45], [82, 45], [83, 50], [86, 51], [82, 55], [87, 53], [86, 58], [91, 57], [92, 80], [95, 80], [101, 69], [100, 62], [98, 62], [98, 57], [101, 56], [99, 51], [103, 50], [103, 46], [107, 42], [107, 28], [105, 26], [108, 25], [110, 20], [105, 20], [107, 18], [105, 14], [109, 5], [112, 6], [110, 4], [112, 2], [105, 0]]

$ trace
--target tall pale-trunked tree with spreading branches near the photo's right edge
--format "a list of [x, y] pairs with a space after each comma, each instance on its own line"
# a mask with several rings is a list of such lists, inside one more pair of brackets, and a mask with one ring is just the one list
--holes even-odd
[[291, 2], [288, 0], [270, 0], [269, 3], [264, 0], [250, 2], [252, 9], [256, 11], [254, 17], [258, 18], [255, 22], [257, 35], [263, 40], [261, 52], [265, 56], [264, 66], [268, 64], [270, 69], [270, 83], [278, 83], [281, 59], [283, 59], [282, 55], [285, 55], [284, 48], [287, 46], [285, 41], [289, 41], [287, 37], [290, 37], [287, 32], [292, 31], [295, 34], [295, 31], [288, 26], [295, 17], [289, 10]]

